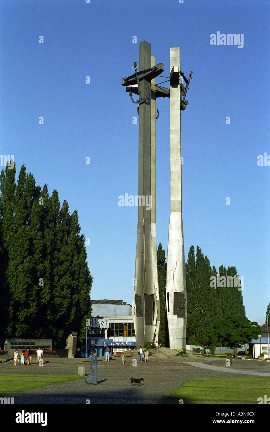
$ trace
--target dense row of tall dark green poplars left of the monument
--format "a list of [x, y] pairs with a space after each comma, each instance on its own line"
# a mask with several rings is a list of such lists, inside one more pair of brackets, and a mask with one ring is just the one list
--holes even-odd
[[[11, 165], [11, 164], [10, 164]], [[4, 337], [52, 338], [64, 347], [91, 318], [92, 276], [77, 211], [58, 192], [35, 185], [22, 165], [0, 175], [0, 343]]]

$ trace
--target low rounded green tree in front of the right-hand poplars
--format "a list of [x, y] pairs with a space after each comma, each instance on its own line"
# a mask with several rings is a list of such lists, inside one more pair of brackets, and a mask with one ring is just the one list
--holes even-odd
[[227, 315], [217, 320], [214, 326], [215, 332], [223, 346], [234, 348], [235, 358], [237, 349], [251, 339], [257, 339], [260, 326], [257, 322], [251, 322], [245, 315]]

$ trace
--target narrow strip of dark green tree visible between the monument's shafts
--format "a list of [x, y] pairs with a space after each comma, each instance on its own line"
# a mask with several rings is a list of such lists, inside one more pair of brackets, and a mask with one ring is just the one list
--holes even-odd
[[166, 273], [167, 264], [165, 258], [165, 251], [162, 249], [161, 243], [157, 248], [157, 276], [158, 276], [158, 289], [160, 299], [160, 327], [158, 332], [158, 342], [162, 346], [169, 346], [169, 330], [167, 320], [166, 308]]

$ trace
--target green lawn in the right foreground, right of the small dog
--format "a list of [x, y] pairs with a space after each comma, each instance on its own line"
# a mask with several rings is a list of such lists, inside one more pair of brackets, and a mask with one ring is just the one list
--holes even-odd
[[[171, 403], [258, 403], [258, 397], [270, 394], [270, 377], [191, 378], [168, 397]], [[166, 402], [168, 403], [168, 402]]]

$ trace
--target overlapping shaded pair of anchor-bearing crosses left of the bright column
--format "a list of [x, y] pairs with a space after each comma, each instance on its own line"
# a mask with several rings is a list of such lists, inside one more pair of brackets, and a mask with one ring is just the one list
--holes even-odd
[[151, 56], [148, 42], [140, 43], [139, 57], [140, 71], [137, 72], [135, 63], [135, 74], [122, 79], [122, 86], [131, 97], [132, 93], [139, 95], [139, 200], [132, 315], [136, 344], [143, 347], [145, 342], [157, 340], [160, 323], [156, 242], [156, 98], [161, 95], [168, 97], [169, 92], [155, 85], [155, 78], [164, 71], [164, 64], [155, 64], [156, 58]]

